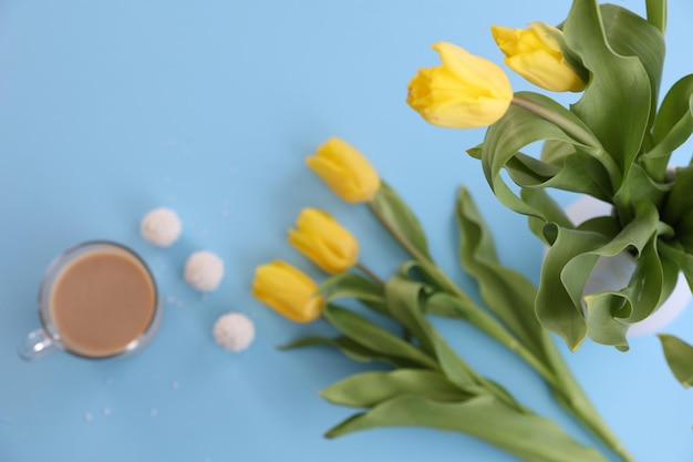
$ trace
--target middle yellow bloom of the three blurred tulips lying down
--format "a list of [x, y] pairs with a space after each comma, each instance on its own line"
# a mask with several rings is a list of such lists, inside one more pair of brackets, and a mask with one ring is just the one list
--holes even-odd
[[301, 211], [289, 243], [330, 274], [343, 273], [359, 258], [359, 243], [331, 215], [316, 208]]

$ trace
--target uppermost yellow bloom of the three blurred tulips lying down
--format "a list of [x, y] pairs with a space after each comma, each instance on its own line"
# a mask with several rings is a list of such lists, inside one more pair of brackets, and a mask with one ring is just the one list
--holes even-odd
[[370, 201], [380, 188], [380, 176], [355, 147], [332, 137], [306, 160], [308, 166], [342, 199]]

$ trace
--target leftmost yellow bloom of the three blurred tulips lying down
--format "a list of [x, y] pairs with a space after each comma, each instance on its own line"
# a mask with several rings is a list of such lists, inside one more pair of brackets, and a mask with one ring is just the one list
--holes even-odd
[[256, 269], [252, 296], [296, 322], [316, 320], [323, 305], [318, 285], [300, 269], [282, 260]]

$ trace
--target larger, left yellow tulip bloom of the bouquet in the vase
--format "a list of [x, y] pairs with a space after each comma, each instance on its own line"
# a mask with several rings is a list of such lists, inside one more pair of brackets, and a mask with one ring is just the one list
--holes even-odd
[[475, 129], [506, 113], [513, 88], [500, 66], [452, 43], [438, 42], [433, 49], [442, 64], [420, 69], [406, 97], [422, 117], [448, 129]]

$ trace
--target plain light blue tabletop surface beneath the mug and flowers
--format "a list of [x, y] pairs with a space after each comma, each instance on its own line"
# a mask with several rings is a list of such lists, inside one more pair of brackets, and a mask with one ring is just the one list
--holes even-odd
[[[644, 0], [621, 3], [644, 10]], [[462, 184], [501, 260], [537, 281], [540, 243], [465, 154], [483, 131], [431, 126], [404, 99], [416, 69], [437, 64], [435, 41], [500, 62], [490, 23], [557, 23], [568, 8], [554, 0], [0, 2], [0, 462], [515, 461], [427, 429], [324, 439], [353, 411], [318, 392], [369, 367], [328, 349], [279, 351], [331, 330], [288, 321], [249, 288], [255, 268], [275, 258], [322, 278], [286, 243], [304, 206], [350, 228], [380, 275], [405, 257], [365, 207], [341, 202], [306, 167], [332, 135], [359, 147], [400, 192], [432, 254], [474, 297], [456, 263], [453, 205]], [[663, 88], [693, 71], [692, 19], [693, 3], [670, 2]], [[166, 249], [138, 230], [159, 206], [184, 226]], [[121, 242], [151, 265], [165, 300], [158, 336], [115, 360], [20, 360], [18, 346], [39, 326], [45, 267], [89, 239]], [[226, 265], [207, 296], [183, 279], [186, 258], [203, 249]], [[240, 353], [211, 336], [228, 311], [256, 325], [255, 342]], [[690, 311], [662, 330], [691, 339]], [[437, 324], [480, 372], [596, 444], [514, 356], [465, 326]], [[693, 460], [693, 391], [673, 379], [653, 335], [633, 338], [627, 353], [589, 341], [562, 351], [639, 461]]]

